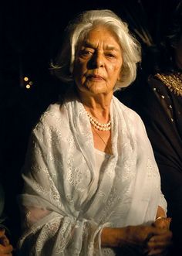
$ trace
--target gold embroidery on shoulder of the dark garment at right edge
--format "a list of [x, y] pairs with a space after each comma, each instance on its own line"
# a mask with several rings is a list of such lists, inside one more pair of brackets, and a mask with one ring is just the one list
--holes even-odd
[[163, 84], [167, 85], [170, 91], [173, 91], [174, 94], [182, 96], [182, 73], [157, 73], [155, 77], [161, 80]]

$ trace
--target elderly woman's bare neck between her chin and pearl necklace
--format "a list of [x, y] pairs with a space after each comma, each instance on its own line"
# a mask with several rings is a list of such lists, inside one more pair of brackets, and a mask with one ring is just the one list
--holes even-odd
[[107, 123], [110, 120], [110, 103], [113, 93], [97, 94], [88, 96], [82, 91], [79, 91], [80, 101], [89, 114], [92, 114], [98, 121]]

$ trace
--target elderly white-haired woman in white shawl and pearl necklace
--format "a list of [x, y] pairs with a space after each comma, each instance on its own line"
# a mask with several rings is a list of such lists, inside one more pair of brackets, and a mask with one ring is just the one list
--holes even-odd
[[160, 254], [170, 244], [145, 128], [113, 97], [133, 82], [138, 61], [140, 47], [110, 10], [69, 23], [54, 66], [68, 90], [33, 129], [24, 166], [20, 254]]

